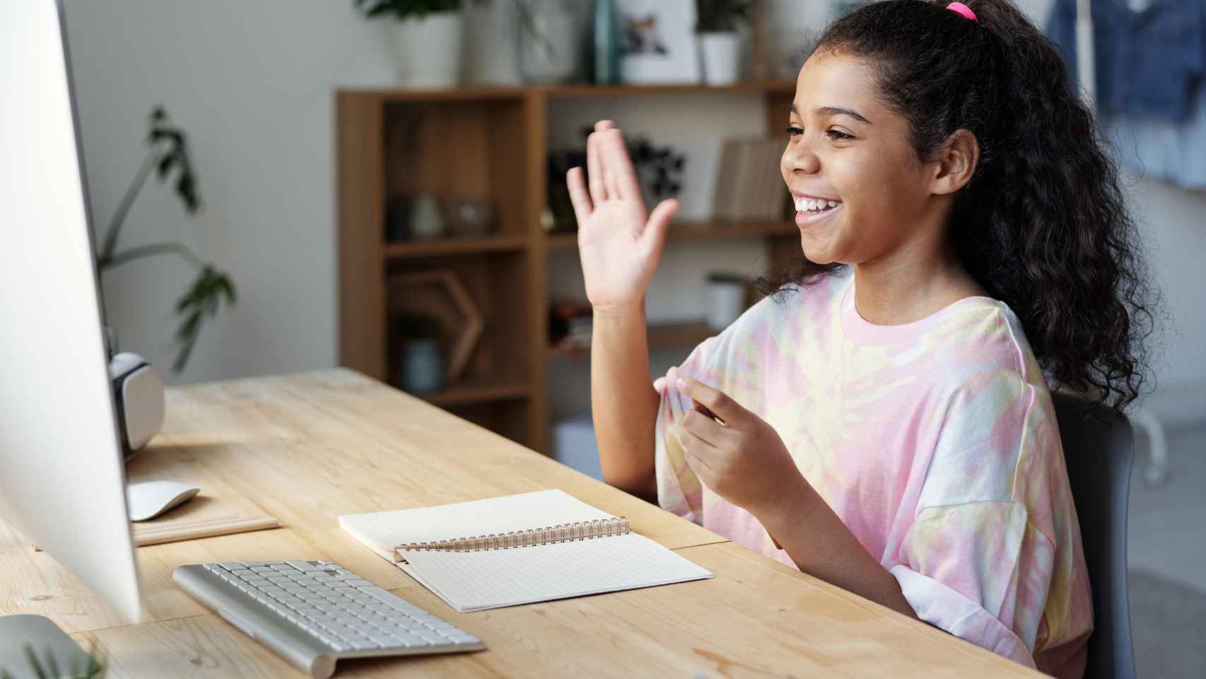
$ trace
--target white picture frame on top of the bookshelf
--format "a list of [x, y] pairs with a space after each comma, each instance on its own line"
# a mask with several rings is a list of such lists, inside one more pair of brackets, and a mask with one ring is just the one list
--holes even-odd
[[616, 0], [620, 80], [626, 84], [701, 81], [695, 0]]

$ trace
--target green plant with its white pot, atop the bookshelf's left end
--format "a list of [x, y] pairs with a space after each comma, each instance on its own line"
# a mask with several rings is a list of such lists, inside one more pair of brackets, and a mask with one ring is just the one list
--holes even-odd
[[367, 18], [393, 17], [391, 43], [402, 84], [446, 88], [461, 82], [462, 0], [353, 0]]

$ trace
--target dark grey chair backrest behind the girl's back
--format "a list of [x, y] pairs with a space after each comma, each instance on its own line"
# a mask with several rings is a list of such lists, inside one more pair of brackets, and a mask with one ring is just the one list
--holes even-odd
[[1126, 498], [1134, 435], [1130, 421], [1082, 397], [1053, 393], [1067, 476], [1093, 584], [1094, 632], [1085, 679], [1134, 679], [1126, 598]]

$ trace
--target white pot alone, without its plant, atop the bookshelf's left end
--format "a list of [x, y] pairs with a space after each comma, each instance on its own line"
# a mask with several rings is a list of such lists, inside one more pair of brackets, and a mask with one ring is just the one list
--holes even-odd
[[439, 89], [461, 83], [461, 12], [393, 22], [390, 42], [403, 87]]

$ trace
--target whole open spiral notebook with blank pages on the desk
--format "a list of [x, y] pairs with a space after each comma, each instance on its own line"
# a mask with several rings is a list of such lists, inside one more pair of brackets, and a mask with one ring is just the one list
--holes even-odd
[[461, 613], [712, 578], [560, 490], [350, 514], [339, 526]]

